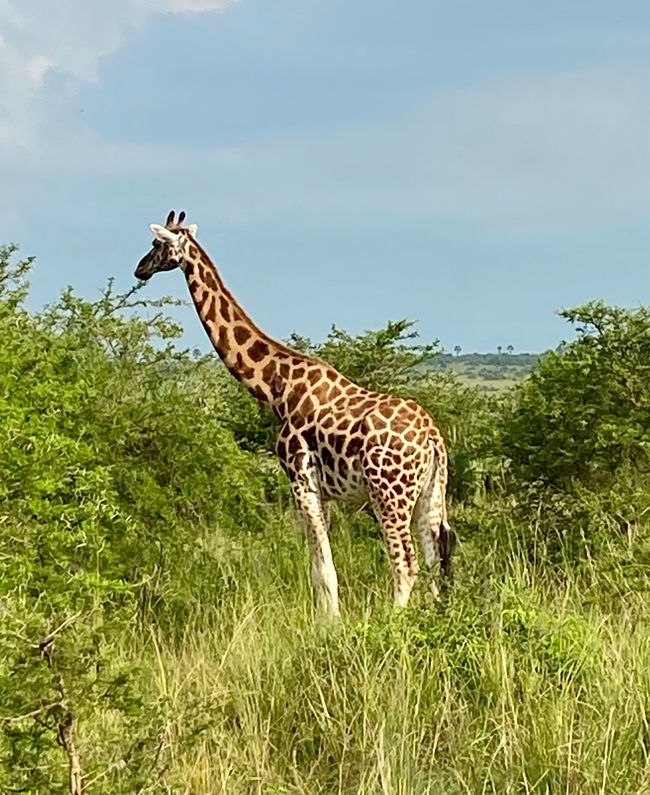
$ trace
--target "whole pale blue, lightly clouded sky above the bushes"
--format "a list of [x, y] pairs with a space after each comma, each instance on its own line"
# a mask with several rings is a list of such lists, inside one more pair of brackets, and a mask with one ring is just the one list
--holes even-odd
[[543, 350], [650, 302], [650, 4], [0, 0], [0, 175], [33, 306], [176, 208], [275, 336]]

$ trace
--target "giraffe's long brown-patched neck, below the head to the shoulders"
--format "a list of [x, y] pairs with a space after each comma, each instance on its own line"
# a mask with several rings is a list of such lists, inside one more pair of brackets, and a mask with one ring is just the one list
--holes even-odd
[[226, 288], [215, 265], [196, 242], [190, 245], [185, 278], [212, 345], [233, 376], [282, 416], [289, 373], [310, 357], [264, 334]]

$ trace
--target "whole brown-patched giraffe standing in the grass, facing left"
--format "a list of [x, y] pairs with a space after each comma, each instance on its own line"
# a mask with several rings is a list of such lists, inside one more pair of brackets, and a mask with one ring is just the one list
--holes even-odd
[[[418, 561], [415, 518], [427, 566], [450, 573], [455, 533], [447, 521], [447, 453], [442, 434], [413, 400], [371, 392], [326, 362], [266, 335], [226, 288], [197, 241], [197, 226], [172, 210], [151, 224], [151, 250], [135, 276], [180, 268], [201, 323], [232, 375], [282, 423], [276, 444], [305, 520], [319, 608], [339, 614], [338, 580], [328, 535], [331, 499], [368, 500], [380, 524], [397, 607], [409, 601]], [[438, 596], [435, 578], [431, 580]]]

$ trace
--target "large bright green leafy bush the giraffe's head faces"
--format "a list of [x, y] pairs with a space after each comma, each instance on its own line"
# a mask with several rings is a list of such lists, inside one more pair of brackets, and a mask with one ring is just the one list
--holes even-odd
[[[193, 573], [213, 565], [202, 528], [261, 530], [277, 475], [218, 421], [221, 395], [196, 379], [211, 365], [175, 351], [169, 301], [109, 283], [97, 302], [66, 290], [29, 315], [31, 263], [14, 252], [0, 252], [0, 753], [11, 786], [55, 792], [67, 716], [137, 709], [137, 666], [127, 675], [112, 644], [153, 605], [161, 621], [190, 609]], [[226, 584], [211, 583], [218, 598]], [[157, 713], [128, 738], [134, 770]]]

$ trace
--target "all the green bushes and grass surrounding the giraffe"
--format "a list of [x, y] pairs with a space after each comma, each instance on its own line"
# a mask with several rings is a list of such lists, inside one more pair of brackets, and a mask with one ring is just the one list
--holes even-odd
[[29, 312], [30, 267], [0, 250], [0, 792], [650, 792], [647, 309], [563, 312], [499, 394], [406, 322], [293, 339], [451, 454], [444, 599], [394, 613], [375, 522], [337, 509], [331, 626], [272, 417], [170, 302]]

